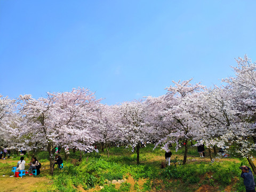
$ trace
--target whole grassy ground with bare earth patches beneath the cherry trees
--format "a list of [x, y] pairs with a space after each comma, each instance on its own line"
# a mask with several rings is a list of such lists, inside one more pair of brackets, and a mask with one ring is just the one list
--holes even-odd
[[[239, 166], [248, 165], [246, 159], [201, 158], [196, 147], [190, 147], [187, 164], [182, 165], [183, 149], [172, 150], [171, 165], [161, 169], [165, 161], [164, 151], [153, 150], [153, 145], [141, 148], [140, 165], [136, 164], [136, 154], [131, 148], [111, 148], [110, 157], [106, 151], [83, 155], [79, 162], [79, 152], [72, 152], [64, 161], [64, 169], [55, 166], [54, 175], [49, 175], [49, 161], [46, 152], [36, 155], [42, 163], [41, 174], [26, 175], [22, 178], [10, 177], [12, 167], [20, 157], [0, 160], [1, 191], [245, 191], [243, 179], [239, 177]], [[64, 156], [61, 154], [61, 156]], [[26, 156], [25, 156], [26, 157]], [[26, 158], [29, 162], [29, 158]], [[175, 162], [175, 164], [174, 164]], [[26, 165], [28, 169], [28, 165]]]

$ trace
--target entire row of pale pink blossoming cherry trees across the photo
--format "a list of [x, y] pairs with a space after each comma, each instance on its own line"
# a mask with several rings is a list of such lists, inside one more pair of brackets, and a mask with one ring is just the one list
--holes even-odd
[[113, 106], [102, 105], [84, 88], [39, 99], [1, 96], [0, 145], [47, 150], [53, 174], [55, 146], [92, 151], [95, 143], [107, 150], [109, 143], [130, 145], [139, 164], [141, 142], [176, 143], [177, 150], [185, 143], [185, 164], [188, 142], [198, 140], [209, 149], [225, 147], [246, 157], [256, 174], [251, 159], [256, 145], [256, 65], [246, 55], [237, 63], [235, 77], [222, 79], [219, 87], [191, 84], [189, 79], [173, 82], [160, 97]]

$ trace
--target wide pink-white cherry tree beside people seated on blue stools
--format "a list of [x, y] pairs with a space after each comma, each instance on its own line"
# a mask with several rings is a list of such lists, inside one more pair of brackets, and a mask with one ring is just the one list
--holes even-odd
[[[90, 130], [95, 126], [95, 115], [100, 100], [88, 89], [73, 89], [71, 92], [47, 93], [47, 98], [33, 99], [20, 95], [23, 121], [22, 135], [32, 143], [39, 143], [50, 156], [50, 174], [53, 174], [54, 147], [76, 147], [91, 151], [97, 139]], [[38, 147], [38, 146], [34, 146]], [[33, 147], [30, 147], [33, 148]]]

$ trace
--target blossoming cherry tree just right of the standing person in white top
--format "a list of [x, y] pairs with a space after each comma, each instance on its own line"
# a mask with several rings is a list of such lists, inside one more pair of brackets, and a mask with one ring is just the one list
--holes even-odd
[[200, 83], [190, 84], [191, 80], [173, 81], [174, 86], [166, 88], [167, 93], [165, 97], [162, 97], [164, 106], [162, 106], [162, 111], [158, 115], [161, 117], [162, 123], [166, 123], [164, 126], [159, 124], [162, 125], [159, 130], [166, 130], [166, 127], [168, 127], [170, 133], [159, 140], [157, 145], [161, 143], [177, 143], [176, 149], [178, 150], [181, 147], [181, 143], [183, 143], [185, 147], [183, 164], [187, 161], [188, 141], [194, 138], [195, 130], [199, 124], [198, 119], [194, 118], [195, 111], [197, 111], [195, 98], [199, 97], [200, 91], [204, 89], [204, 86], [200, 85]]

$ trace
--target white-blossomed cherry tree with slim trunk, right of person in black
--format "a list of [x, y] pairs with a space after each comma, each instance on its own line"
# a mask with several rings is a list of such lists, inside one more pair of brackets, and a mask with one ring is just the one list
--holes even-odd
[[195, 117], [199, 119], [195, 140], [203, 140], [204, 145], [209, 149], [220, 142], [220, 137], [230, 129], [230, 123], [235, 122], [236, 110], [231, 102], [229, 90], [225, 87], [207, 89], [196, 101], [198, 111]]

